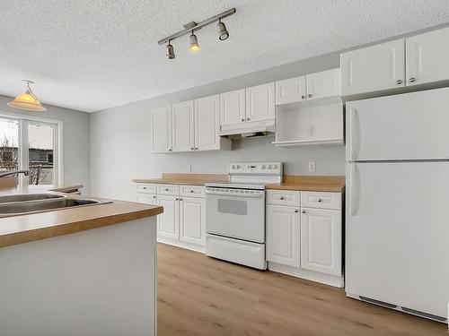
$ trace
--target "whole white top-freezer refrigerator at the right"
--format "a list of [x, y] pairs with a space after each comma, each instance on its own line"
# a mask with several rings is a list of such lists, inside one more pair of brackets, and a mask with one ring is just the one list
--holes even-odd
[[449, 88], [347, 103], [348, 297], [447, 323]]

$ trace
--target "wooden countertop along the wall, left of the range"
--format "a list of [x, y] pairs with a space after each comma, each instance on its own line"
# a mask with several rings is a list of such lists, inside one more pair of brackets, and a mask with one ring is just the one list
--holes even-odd
[[224, 174], [174, 174], [163, 173], [162, 178], [136, 178], [136, 183], [159, 183], [167, 185], [205, 185], [209, 182], [227, 182], [229, 176]]

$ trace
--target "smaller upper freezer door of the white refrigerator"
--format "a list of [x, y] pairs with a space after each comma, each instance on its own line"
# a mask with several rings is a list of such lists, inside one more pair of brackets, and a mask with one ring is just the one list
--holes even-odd
[[348, 102], [347, 160], [448, 159], [449, 88]]

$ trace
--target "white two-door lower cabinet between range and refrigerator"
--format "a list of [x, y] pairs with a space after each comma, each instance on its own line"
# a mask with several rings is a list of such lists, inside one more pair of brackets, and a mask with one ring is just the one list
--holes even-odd
[[[279, 193], [297, 201], [283, 203], [286, 196], [281, 199]], [[341, 193], [267, 191], [269, 270], [343, 287], [341, 202], [323, 202], [341, 197]]]

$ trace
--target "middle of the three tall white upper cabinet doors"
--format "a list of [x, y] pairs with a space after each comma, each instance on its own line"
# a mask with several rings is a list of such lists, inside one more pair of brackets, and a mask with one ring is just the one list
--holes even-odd
[[173, 151], [193, 151], [193, 100], [173, 104], [172, 119]]

